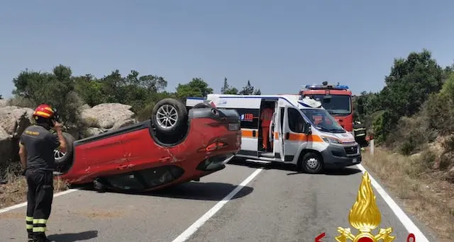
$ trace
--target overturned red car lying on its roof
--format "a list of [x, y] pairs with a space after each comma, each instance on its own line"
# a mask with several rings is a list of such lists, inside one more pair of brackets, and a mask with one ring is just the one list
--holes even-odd
[[66, 153], [55, 150], [56, 177], [96, 190], [157, 190], [220, 171], [239, 151], [236, 110], [206, 103], [188, 109], [166, 98], [150, 120], [74, 140], [63, 133]]

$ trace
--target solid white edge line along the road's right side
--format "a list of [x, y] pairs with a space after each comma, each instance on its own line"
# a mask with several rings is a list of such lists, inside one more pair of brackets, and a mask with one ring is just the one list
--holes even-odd
[[[365, 173], [366, 169], [364, 168], [364, 166], [362, 166], [361, 164], [358, 164], [356, 166], [358, 166], [358, 168], [362, 171], [362, 173]], [[369, 173], [369, 172], [367, 172], [367, 173]], [[392, 200], [392, 198], [382, 188], [382, 186], [380, 184], [378, 184], [374, 178], [372, 178], [372, 175], [370, 175], [370, 173], [369, 173], [369, 178], [370, 178], [370, 183], [372, 184], [372, 186], [383, 197], [384, 202], [386, 202], [388, 204], [388, 206], [391, 208], [392, 212], [394, 212], [394, 214], [396, 214], [397, 219], [399, 219], [401, 221], [401, 223], [402, 223], [402, 225], [404, 225], [405, 229], [409, 233], [414, 234], [416, 241], [428, 242], [428, 239], [426, 238], [426, 236], [424, 236], [423, 232], [421, 232], [421, 230], [419, 230], [419, 228], [414, 224], [414, 222], [411, 221], [411, 219], [408, 216], [406, 216], [405, 212], [399, 207], [399, 205], [397, 205], [396, 202], [394, 202], [394, 200]]]

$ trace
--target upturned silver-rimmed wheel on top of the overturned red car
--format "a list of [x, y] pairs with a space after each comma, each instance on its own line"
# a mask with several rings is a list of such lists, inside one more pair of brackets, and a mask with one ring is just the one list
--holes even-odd
[[186, 107], [174, 98], [162, 99], [153, 107], [151, 122], [161, 134], [176, 134], [187, 122]]

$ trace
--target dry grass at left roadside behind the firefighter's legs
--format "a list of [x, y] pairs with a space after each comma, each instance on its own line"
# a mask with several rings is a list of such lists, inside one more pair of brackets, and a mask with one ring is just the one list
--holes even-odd
[[[23, 175], [6, 174], [6, 184], [0, 185], [0, 209], [26, 202], [27, 182]], [[69, 185], [59, 178], [54, 180], [54, 192], [67, 190]]]

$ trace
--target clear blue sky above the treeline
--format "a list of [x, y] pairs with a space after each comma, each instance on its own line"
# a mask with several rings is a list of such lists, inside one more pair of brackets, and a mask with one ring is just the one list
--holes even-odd
[[20, 71], [101, 77], [114, 69], [178, 83], [224, 76], [263, 94], [328, 80], [379, 91], [395, 57], [426, 48], [454, 59], [454, 1], [96, 0], [5, 1], [0, 8], [0, 94]]

